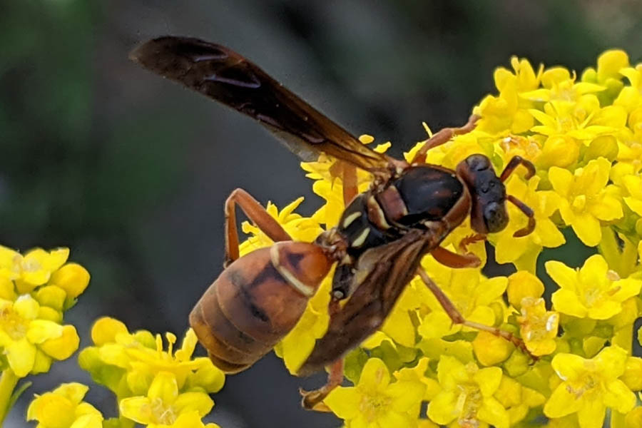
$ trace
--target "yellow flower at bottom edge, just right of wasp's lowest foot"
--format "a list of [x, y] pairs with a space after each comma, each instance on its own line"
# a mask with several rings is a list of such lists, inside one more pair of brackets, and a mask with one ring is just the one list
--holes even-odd
[[384, 362], [371, 358], [355, 387], [337, 387], [324, 400], [349, 428], [416, 427], [425, 386], [416, 380], [390, 383]]

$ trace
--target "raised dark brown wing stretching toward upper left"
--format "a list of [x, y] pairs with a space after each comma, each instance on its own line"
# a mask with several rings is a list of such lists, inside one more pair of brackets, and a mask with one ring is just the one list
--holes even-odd
[[130, 58], [255, 118], [304, 161], [316, 161], [322, 152], [364, 170], [387, 170], [387, 156], [364, 146], [265, 71], [224, 46], [166, 36], [138, 46]]

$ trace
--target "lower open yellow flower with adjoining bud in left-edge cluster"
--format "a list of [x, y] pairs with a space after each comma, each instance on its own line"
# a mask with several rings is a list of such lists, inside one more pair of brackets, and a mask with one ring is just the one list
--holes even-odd
[[76, 328], [39, 319], [39, 309], [30, 295], [0, 300], [0, 346], [18, 377], [46, 372], [52, 358], [65, 360], [78, 349]]

